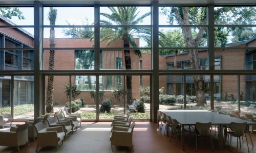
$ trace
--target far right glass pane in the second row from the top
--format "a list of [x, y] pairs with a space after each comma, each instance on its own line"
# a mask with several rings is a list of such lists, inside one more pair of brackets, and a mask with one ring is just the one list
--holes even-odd
[[215, 28], [216, 47], [255, 47], [255, 27]]

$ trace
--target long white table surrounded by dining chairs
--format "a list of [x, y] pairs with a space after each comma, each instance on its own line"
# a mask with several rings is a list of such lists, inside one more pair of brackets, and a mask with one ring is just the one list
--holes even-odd
[[255, 122], [247, 121], [244, 119], [230, 117], [228, 115], [219, 114], [207, 110], [163, 110], [167, 116], [176, 119], [181, 124], [181, 147], [185, 150], [184, 145], [184, 126], [195, 125], [196, 122], [207, 123], [211, 122], [212, 125], [219, 126], [219, 148], [223, 148], [223, 125], [229, 125], [230, 122], [247, 122], [248, 125], [256, 125]]

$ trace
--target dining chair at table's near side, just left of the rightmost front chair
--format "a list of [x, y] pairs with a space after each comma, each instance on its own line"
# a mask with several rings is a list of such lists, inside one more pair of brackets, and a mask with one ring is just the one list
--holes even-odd
[[197, 137], [209, 137], [212, 151], [214, 151], [214, 146], [212, 145], [212, 141], [210, 137], [211, 129], [212, 129], [211, 122], [208, 122], [208, 123], [196, 122], [196, 125], [195, 125], [196, 151], [197, 151]]

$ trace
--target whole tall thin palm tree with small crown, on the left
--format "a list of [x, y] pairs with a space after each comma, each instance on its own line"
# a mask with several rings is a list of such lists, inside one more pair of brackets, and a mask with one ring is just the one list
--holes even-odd
[[[55, 25], [55, 21], [57, 18], [57, 9], [50, 8], [48, 13], [48, 20], [50, 21], [50, 25]], [[50, 28], [50, 48], [55, 47], [55, 30], [53, 27]], [[50, 50], [49, 55], [49, 70], [54, 69], [54, 49]], [[46, 112], [53, 112], [53, 75], [48, 76], [48, 85], [47, 85], [47, 95], [46, 95]]]

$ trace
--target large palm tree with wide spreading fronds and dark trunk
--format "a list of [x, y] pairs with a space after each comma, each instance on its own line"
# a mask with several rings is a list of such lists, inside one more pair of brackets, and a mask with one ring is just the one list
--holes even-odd
[[[136, 25], [141, 22], [145, 17], [151, 13], [145, 13], [139, 17], [138, 7], [108, 7], [111, 14], [100, 13], [100, 15], [108, 18], [109, 20], [100, 20], [102, 25]], [[163, 33], [160, 33], [161, 37], [165, 37]], [[137, 47], [135, 37], [146, 41], [148, 44], [151, 42], [151, 28], [143, 27], [112, 27], [112, 29], [102, 28], [102, 39], [106, 40], [108, 46], [111, 42], [116, 39], [123, 40], [123, 47]], [[163, 46], [162, 42], [159, 42]], [[141, 57], [140, 50], [135, 50], [135, 54]], [[125, 69], [132, 69], [130, 50], [124, 49], [124, 61]], [[126, 76], [126, 93], [127, 103], [131, 103], [132, 97], [132, 76]]]

